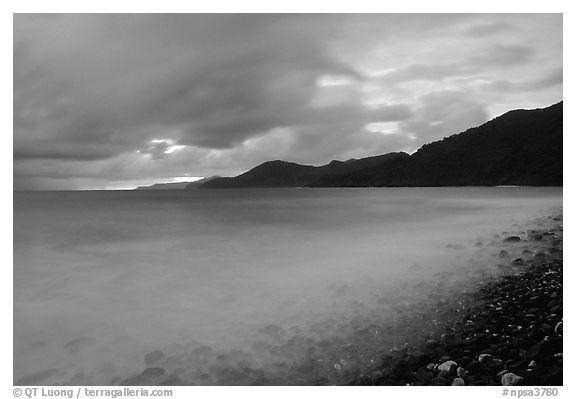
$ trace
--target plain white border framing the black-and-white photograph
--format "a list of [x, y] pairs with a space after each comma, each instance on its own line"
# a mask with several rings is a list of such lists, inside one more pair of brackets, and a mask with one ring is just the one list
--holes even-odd
[[[10, 145], [2, 147], [0, 162], [2, 167], [2, 183], [4, 192], [2, 199], [2, 251], [0, 267], [2, 267], [2, 287], [0, 290], [0, 303], [2, 317], [5, 321], [2, 331], [2, 361], [0, 397], [10, 398], [12, 396], [12, 13], [14, 12], [420, 12], [420, 13], [454, 13], [454, 12], [498, 12], [498, 13], [564, 13], [564, 102], [568, 112], [564, 114], [564, 124], [566, 132], [564, 134], [564, 223], [568, 226], [565, 229], [565, 265], [564, 268], [566, 288], [564, 290], [564, 312], [565, 323], [564, 340], [564, 366], [565, 379], [564, 387], [560, 391], [562, 397], [576, 397], [575, 384], [570, 378], [574, 375], [574, 340], [575, 329], [572, 327], [574, 320], [574, 282], [576, 282], [575, 263], [573, 262], [574, 252], [571, 245], [574, 242], [572, 226], [574, 225], [574, 185], [572, 184], [571, 172], [575, 171], [574, 156], [574, 116], [571, 110], [573, 102], [571, 95], [574, 88], [574, 48], [573, 38], [576, 38], [573, 1], [565, 0], [539, 0], [539, 1], [502, 1], [483, 0], [474, 2], [470, 6], [462, 1], [447, 0], [403, 0], [401, 2], [380, 1], [304, 1], [290, 0], [285, 2], [270, 2], [263, 0], [238, 0], [238, 1], [211, 1], [211, 2], [190, 2], [163, 0], [161, 2], [143, 1], [119, 1], [119, 0], [99, 0], [92, 2], [79, 2], [72, 0], [26, 0], [8, 1], [2, 3], [2, 14], [0, 26], [2, 29], [2, 124], [5, 137], [8, 137]], [[570, 393], [572, 392], [572, 393]], [[192, 396], [206, 397], [250, 397], [250, 398], [290, 398], [294, 396], [318, 397], [330, 396], [331, 398], [349, 398], [352, 395], [374, 395], [382, 397], [390, 395], [395, 397], [458, 397], [465, 395], [469, 398], [490, 398], [502, 397], [502, 388], [499, 387], [175, 387], [174, 396], [176, 398], [189, 398]]]

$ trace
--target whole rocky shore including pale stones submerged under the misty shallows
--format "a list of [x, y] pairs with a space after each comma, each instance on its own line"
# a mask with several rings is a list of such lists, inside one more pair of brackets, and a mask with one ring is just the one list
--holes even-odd
[[[449, 244], [455, 264], [306, 330], [262, 326], [244, 348], [157, 348], [133, 355], [136, 373], [109, 363], [71, 377], [52, 368], [17, 385], [562, 385], [562, 216], [529, 226]], [[353, 299], [345, 288], [334, 295]], [[115, 348], [134, 344], [124, 341]], [[93, 345], [83, 338], [64, 349]]]

